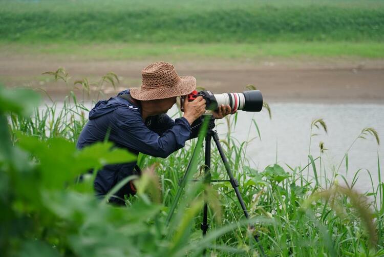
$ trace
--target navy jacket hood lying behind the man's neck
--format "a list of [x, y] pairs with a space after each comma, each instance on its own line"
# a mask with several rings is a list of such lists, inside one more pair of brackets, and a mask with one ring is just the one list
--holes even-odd
[[93, 120], [94, 118], [110, 113], [116, 110], [117, 108], [120, 108], [123, 106], [140, 110], [138, 106], [133, 105], [132, 103], [126, 101], [125, 99], [118, 97], [119, 95], [122, 95], [122, 94], [130, 94], [130, 90], [124, 90], [118, 93], [117, 96], [115, 97], [111, 97], [108, 100], [102, 100], [97, 102], [95, 107], [93, 107], [92, 110], [89, 112], [89, 119]]

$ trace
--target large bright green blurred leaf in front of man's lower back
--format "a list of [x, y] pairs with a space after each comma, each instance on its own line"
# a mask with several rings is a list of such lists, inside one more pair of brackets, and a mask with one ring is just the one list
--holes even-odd
[[136, 156], [124, 149], [112, 148], [113, 144], [95, 143], [77, 150], [72, 142], [53, 138], [42, 142], [33, 136], [18, 135], [18, 144], [39, 160], [40, 183], [45, 188], [62, 187], [75, 181], [76, 176], [106, 164], [128, 163]]

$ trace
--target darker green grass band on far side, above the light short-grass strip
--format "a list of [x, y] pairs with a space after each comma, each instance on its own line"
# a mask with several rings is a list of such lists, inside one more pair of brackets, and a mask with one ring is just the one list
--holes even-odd
[[3, 42], [382, 42], [381, 1], [3, 1]]

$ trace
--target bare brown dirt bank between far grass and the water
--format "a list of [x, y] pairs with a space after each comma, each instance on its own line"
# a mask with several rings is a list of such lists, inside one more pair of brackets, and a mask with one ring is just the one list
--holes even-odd
[[[54, 83], [42, 72], [65, 67], [73, 81], [88, 77], [97, 81], [114, 71], [121, 79], [112, 95], [121, 89], [139, 86], [140, 71], [146, 61], [79, 61], [55, 60], [31, 56], [0, 57], [0, 81], [7, 86], [43, 88], [55, 98], [69, 90], [65, 84]], [[292, 102], [359, 102], [384, 103], [384, 61], [320, 60], [259, 62], [204, 60], [174, 62], [179, 75], [193, 75], [198, 86], [215, 93], [237, 92], [248, 84], [262, 90], [266, 101]]]

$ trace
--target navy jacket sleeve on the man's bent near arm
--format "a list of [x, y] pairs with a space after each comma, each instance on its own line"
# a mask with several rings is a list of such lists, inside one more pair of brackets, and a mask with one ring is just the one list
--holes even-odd
[[111, 139], [113, 136], [112, 140], [118, 144], [154, 157], [167, 157], [184, 147], [190, 136], [190, 125], [183, 117], [177, 118], [174, 125], [160, 136], [145, 126], [138, 110], [119, 108], [114, 115], [115, 131], [111, 133]]

